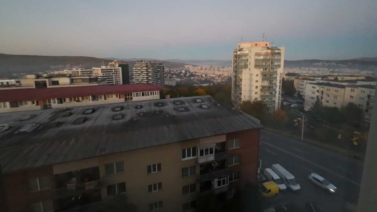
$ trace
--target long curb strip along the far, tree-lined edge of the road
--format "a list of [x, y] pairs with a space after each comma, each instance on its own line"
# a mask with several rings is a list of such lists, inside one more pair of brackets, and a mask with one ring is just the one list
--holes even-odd
[[364, 157], [365, 157], [365, 155], [363, 155], [363, 154], [360, 154], [360, 153], [357, 153], [357, 152], [353, 152], [353, 151], [349, 151], [349, 150], [346, 150], [346, 149], [342, 149], [340, 147], [331, 146], [329, 144], [320, 143], [318, 141], [309, 140], [309, 139], [301, 140], [300, 137], [298, 137], [296, 135], [288, 134], [287, 132], [283, 132], [283, 131], [279, 131], [279, 130], [274, 130], [274, 129], [266, 128], [266, 127], [263, 127], [263, 129], [266, 130], [266, 131], [269, 131], [269, 132], [273, 132], [275, 134], [284, 135], [285, 137], [294, 139], [294, 140], [299, 141], [299, 142], [311, 144], [313, 146], [317, 146], [317, 147], [320, 147], [322, 149], [326, 149], [326, 150], [331, 151], [331, 152], [336, 152], [336, 153], [345, 155], [347, 157], [354, 158], [356, 160], [362, 160], [363, 161]]

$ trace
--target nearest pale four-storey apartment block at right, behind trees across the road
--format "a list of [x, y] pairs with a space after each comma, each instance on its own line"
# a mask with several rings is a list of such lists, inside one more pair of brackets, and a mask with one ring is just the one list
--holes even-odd
[[307, 84], [304, 109], [309, 110], [319, 98], [323, 106], [342, 108], [354, 103], [363, 109], [365, 118], [372, 115], [376, 86], [374, 85], [341, 85], [331, 83]]

